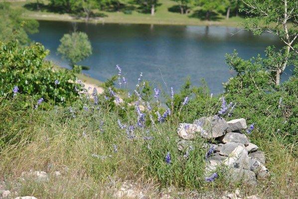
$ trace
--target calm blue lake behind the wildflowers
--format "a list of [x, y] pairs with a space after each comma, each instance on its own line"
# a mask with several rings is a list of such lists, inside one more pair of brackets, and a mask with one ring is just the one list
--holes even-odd
[[[48, 60], [70, 68], [67, 61], [57, 55], [56, 49], [63, 34], [76, 27], [88, 34], [93, 47], [92, 56], [79, 63], [90, 67], [83, 72], [105, 81], [117, 74], [115, 66], [119, 64], [130, 89], [136, 86], [143, 72], [143, 78], [154, 87], [163, 87], [161, 74], [167, 86], [175, 90], [190, 76], [193, 85], [200, 86], [200, 80], [205, 79], [211, 92], [218, 94], [223, 91], [222, 83], [234, 75], [224, 62], [225, 53], [237, 49], [239, 56], [248, 59], [258, 53], [264, 55], [268, 45], [282, 45], [272, 34], [253, 36], [234, 27], [64, 21], [39, 21], [39, 25], [39, 33], [30, 38], [51, 51]], [[287, 79], [290, 74], [288, 69], [282, 78]]]

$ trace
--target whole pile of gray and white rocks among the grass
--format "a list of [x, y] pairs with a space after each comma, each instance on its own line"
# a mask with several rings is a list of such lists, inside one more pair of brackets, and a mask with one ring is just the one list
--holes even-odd
[[[258, 178], [267, 178], [269, 171], [264, 166], [265, 154], [250, 142], [242, 133], [247, 128], [244, 118], [226, 121], [215, 116], [201, 117], [192, 124], [180, 123], [177, 129], [180, 141], [178, 150], [188, 154], [193, 149], [194, 140], [201, 137], [206, 140], [202, 147], [206, 153], [206, 176], [218, 167], [227, 168], [228, 180], [256, 185]], [[185, 156], [185, 155], [184, 155]]]

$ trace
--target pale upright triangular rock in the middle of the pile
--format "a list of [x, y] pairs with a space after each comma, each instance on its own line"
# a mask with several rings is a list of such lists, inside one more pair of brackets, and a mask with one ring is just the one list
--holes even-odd
[[242, 169], [248, 164], [248, 152], [243, 146], [237, 146], [223, 163], [230, 168]]

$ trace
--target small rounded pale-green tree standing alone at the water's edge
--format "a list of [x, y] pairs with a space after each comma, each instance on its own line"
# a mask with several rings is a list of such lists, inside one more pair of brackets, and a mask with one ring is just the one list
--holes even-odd
[[57, 51], [63, 58], [69, 60], [72, 66], [92, 54], [91, 43], [84, 32], [64, 34], [60, 42]]

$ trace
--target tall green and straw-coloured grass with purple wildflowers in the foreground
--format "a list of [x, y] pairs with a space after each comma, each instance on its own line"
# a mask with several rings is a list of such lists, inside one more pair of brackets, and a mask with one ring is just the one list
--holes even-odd
[[[162, 116], [166, 109], [159, 98], [150, 100], [151, 108], [147, 101], [139, 99], [142, 86], [134, 96], [141, 105], [137, 107], [126, 100], [115, 105], [113, 100], [118, 90], [112, 91], [115, 93], [107, 90], [103, 95], [92, 97], [86, 91], [80, 92], [81, 100], [74, 102], [71, 111], [59, 104], [41, 104], [34, 108], [36, 99], [21, 94], [11, 99], [0, 98], [0, 176], [7, 182], [15, 182], [23, 171], [62, 173], [58, 179], [51, 176], [47, 183], [30, 179], [21, 181], [21, 185], [11, 183], [11, 189], [37, 198], [109, 198], [113, 193], [107, 185], [116, 179], [150, 184], [154, 188], [200, 192], [232, 190], [239, 186], [247, 194], [295, 197], [298, 183], [295, 145], [285, 145], [278, 137], [271, 140], [253, 137], [265, 151], [272, 173], [271, 179], [260, 182], [256, 188], [230, 185], [220, 173], [215, 182], [206, 183], [204, 140], [194, 141], [194, 150], [187, 159], [177, 149], [177, 125], [184, 120], [187, 110], [191, 112], [192, 103], [171, 107], [170, 115], [160, 120], [155, 112], [159, 111]], [[105, 100], [105, 95], [109, 100]], [[217, 111], [219, 100], [208, 97], [204, 103], [202, 114], [209, 116]], [[145, 119], [142, 114], [146, 114]], [[165, 161], [168, 153], [169, 164]]]

